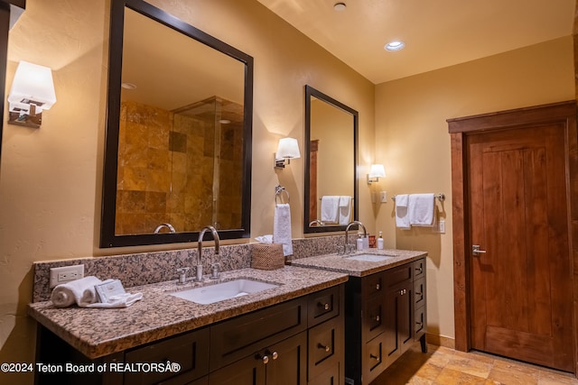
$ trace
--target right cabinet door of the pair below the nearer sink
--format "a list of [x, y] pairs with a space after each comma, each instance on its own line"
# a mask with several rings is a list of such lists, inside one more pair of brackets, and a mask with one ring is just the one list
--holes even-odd
[[307, 383], [307, 332], [270, 346], [266, 354], [267, 385], [304, 385]]

